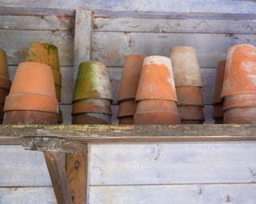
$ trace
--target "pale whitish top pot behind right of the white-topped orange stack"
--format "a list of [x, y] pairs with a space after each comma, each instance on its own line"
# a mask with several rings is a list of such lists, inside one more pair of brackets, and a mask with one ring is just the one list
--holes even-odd
[[202, 87], [202, 77], [194, 47], [172, 47], [170, 49], [170, 59], [174, 69], [174, 81], [176, 87]]

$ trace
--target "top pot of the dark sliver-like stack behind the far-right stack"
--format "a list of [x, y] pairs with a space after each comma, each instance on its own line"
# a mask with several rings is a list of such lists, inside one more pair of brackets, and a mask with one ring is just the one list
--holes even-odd
[[214, 87], [214, 104], [221, 103], [223, 98], [221, 97], [222, 93], [222, 84], [225, 73], [226, 60], [218, 62], [218, 69], [215, 78], [215, 87]]

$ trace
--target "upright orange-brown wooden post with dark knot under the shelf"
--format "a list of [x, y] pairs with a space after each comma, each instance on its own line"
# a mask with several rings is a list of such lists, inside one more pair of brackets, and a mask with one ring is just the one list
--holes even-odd
[[87, 153], [66, 154], [66, 174], [74, 204], [86, 204]]

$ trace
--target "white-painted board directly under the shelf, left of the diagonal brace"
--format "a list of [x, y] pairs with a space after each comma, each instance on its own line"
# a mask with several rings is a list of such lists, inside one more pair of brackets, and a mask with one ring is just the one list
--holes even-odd
[[2, 145], [0, 155], [0, 186], [51, 186], [42, 152]]

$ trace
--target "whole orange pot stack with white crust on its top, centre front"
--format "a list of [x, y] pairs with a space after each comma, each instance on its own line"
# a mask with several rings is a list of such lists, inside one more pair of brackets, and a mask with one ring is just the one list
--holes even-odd
[[135, 100], [134, 124], [180, 124], [170, 58], [145, 58]]

